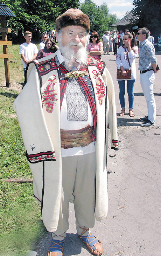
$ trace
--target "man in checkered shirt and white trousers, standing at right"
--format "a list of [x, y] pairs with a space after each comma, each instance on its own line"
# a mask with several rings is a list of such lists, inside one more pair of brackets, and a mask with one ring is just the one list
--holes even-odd
[[139, 28], [137, 33], [139, 44], [139, 70], [140, 84], [147, 102], [148, 116], [140, 118], [144, 123], [141, 126], [154, 126], [156, 117], [156, 106], [153, 93], [155, 79], [156, 58], [153, 44], [148, 40], [149, 30], [146, 27]]

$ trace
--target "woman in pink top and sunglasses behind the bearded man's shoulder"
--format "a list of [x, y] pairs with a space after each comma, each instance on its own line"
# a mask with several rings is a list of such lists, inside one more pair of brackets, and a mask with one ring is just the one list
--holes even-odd
[[94, 31], [90, 36], [90, 43], [87, 45], [87, 52], [91, 57], [101, 59], [103, 53], [103, 43], [100, 42], [99, 34]]

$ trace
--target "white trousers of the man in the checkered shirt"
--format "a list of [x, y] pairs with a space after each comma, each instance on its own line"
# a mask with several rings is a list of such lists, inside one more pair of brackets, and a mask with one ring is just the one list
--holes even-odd
[[153, 84], [155, 79], [155, 73], [153, 70], [147, 71], [144, 74], [140, 74], [140, 84], [144, 96], [146, 98], [148, 108], [148, 118], [152, 123], [155, 123], [156, 117], [156, 105], [153, 92]]

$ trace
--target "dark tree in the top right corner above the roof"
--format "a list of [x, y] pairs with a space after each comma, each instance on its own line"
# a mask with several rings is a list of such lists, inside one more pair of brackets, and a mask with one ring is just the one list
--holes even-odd
[[161, 24], [160, 0], [134, 0], [133, 13], [138, 17], [138, 26], [147, 27], [153, 36], [158, 37]]

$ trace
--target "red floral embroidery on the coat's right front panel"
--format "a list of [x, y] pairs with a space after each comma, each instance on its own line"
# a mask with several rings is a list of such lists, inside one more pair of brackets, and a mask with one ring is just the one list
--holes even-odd
[[96, 89], [97, 89], [97, 96], [98, 96], [98, 100], [99, 100], [99, 104], [102, 105], [103, 103], [103, 97], [105, 97], [105, 92], [106, 92], [106, 88], [104, 85], [104, 82], [102, 82], [102, 79], [99, 78], [100, 73], [97, 72], [96, 70], [92, 71], [93, 73], [93, 77], [94, 79], [96, 79]]

